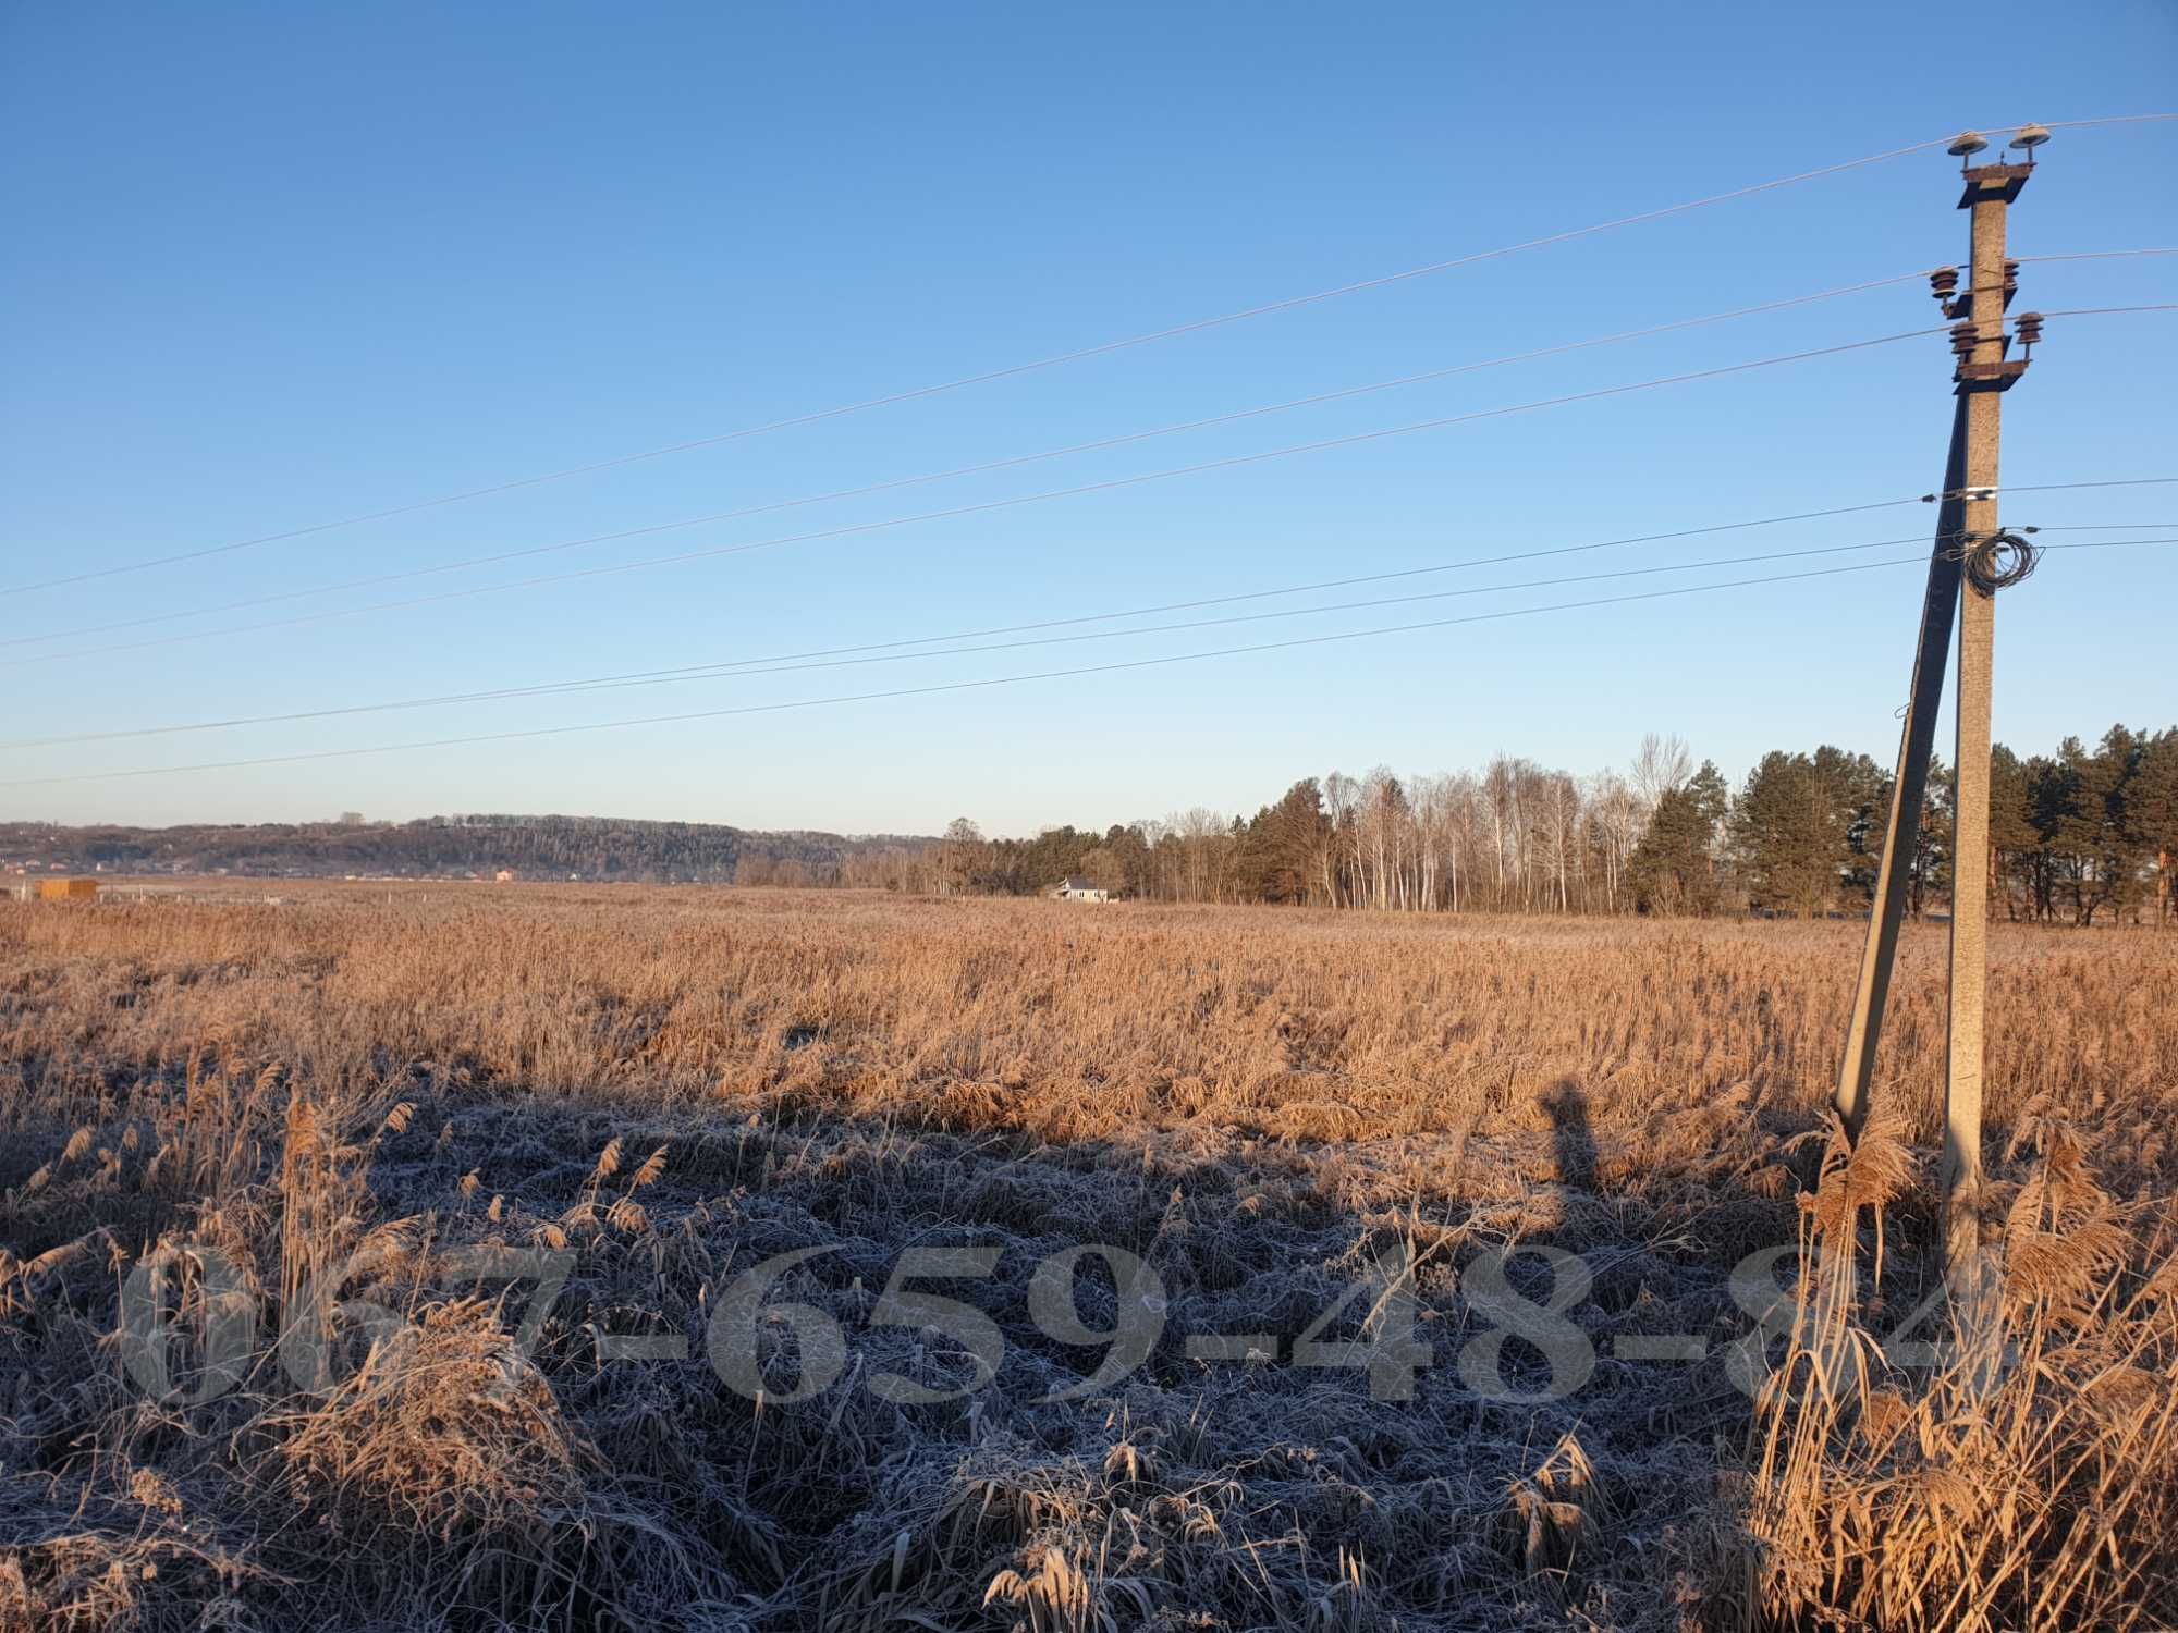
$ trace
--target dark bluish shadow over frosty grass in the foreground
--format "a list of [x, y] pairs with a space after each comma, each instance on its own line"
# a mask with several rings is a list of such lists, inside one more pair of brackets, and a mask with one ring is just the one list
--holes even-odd
[[[1196, 1613], [1202, 1626], [1333, 1616], [1505, 1629], [1586, 1616], [1666, 1629], [1732, 1531], [1714, 1437], [1738, 1435], [1745, 1398], [1714, 1361], [1627, 1361], [1614, 1341], [1729, 1324], [1736, 1252], [1705, 1250], [1703, 1221], [1760, 1204], [1784, 1230], [1782, 1204], [1662, 1171], [1653, 1187], [1599, 1195], [1599, 1137], [1570, 1082], [1542, 1102], [1549, 1147], [1276, 1141], [1213, 1126], [1045, 1145], [808, 1104], [778, 1119], [775, 1106], [734, 1100], [645, 1113], [625, 1095], [414, 1097], [407, 1128], [370, 1150], [370, 1217], [357, 1228], [418, 1219], [425, 1245], [342, 1293], [420, 1317], [486, 1291], [505, 1298], [499, 1319], [512, 1328], [536, 1291], [479, 1289], [446, 1269], [444, 1250], [564, 1243], [571, 1276], [531, 1361], [560, 1422], [590, 1448], [588, 1500], [649, 1537], [636, 1557], [653, 1566], [612, 1583], [603, 1568], [627, 1572], [625, 1548], [538, 1563], [573, 1581], [553, 1600], [560, 1613], [579, 1607], [592, 1624], [1056, 1629]], [[270, 1174], [279, 1141], [264, 1132]], [[601, 1174], [608, 1141], [621, 1158]], [[662, 1176], [638, 1187], [660, 1145]], [[614, 1202], [640, 1213], [614, 1215]], [[257, 1243], [268, 1272], [277, 1226], [272, 1204]], [[26, 1230], [17, 1208], [0, 1239]], [[1586, 1298], [1566, 1304], [1551, 1258], [1514, 1252], [1503, 1276], [1518, 1309], [1477, 1309], [1461, 1287], [1477, 1256], [1527, 1243], [1581, 1254]], [[989, 1274], [902, 1280], [886, 1304], [904, 1254], [928, 1248], [984, 1250]], [[1089, 1252], [1054, 1280], [1043, 1267], [1076, 1248]], [[819, 1341], [797, 1337], [804, 1317], [749, 1328], [747, 1361], [764, 1383], [754, 1400], [712, 1365], [719, 1313], [751, 1269], [804, 1250], [817, 1252], [760, 1298], [806, 1306]], [[1130, 1278], [1135, 1261], [1150, 1274]], [[33, 1511], [70, 1491], [85, 1513], [142, 1528], [129, 1494], [144, 1470], [187, 1489], [194, 1520], [255, 1539], [244, 1548], [268, 1574], [235, 1594], [264, 1616], [301, 1613], [340, 1583], [357, 1618], [505, 1618], [501, 1600], [462, 1587], [479, 1581], [479, 1559], [494, 1561], [481, 1581], [505, 1581], [503, 1533], [455, 1526], [396, 1570], [370, 1542], [403, 1526], [394, 1496], [362, 1505], [368, 1524], [342, 1511], [359, 1528], [327, 1533], [222, 1465], [203, 1435], [133, 1437], [115, 1457], [142, 1402], [37, 1383], [115, 1324], [111, 1274], [91, 1269], [50, 1289], [65, 1317], [0, 1356], [0, 1400], [17, 1402], [0, 1422], [0, 1546], [37, 1544]], [[1592, 1365], [1568, 1370], [1566, 1324]], [[989, 1372], [971, 1354], [978, 1330], [995, 1335]], [[1139, 1356], [1111, 1337], [1128, 1330], [1146, 1335]], [[625, 1337], [658, 1352], [610, 1359], [603, 1339]], [[1577, 1387], [1562, 1387], [1575, 1370]], [[54, 1450], [37, 1459], [35, 1496], [13, 1457], [33, 1420]], [[272, 1420], [268, 1409], [246, 1433], [270, 1433]], [[420, 1454], [446, 1431], [420, 1417], [403, 1433], [423, 1437]], [[490, 1439], [468, 1450], [514, 1457]], [[1538, 1546], [1512, 1494], [1570, 1461], [1590, 1483]], [[418, 1557], [433, 1568], [418, 1572]], [[163, 1581], [146, 1579], [139, 1596], [163, 1594], [168, 1616], [205, 1609], [203, 1574]], [[690, 1583], [723, 1603], [690, 1616]]]

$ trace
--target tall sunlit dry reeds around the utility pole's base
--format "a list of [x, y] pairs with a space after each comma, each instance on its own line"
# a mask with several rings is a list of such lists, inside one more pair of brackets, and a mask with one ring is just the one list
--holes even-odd
[[1982, 1296], [1901, 1339], [1877, 1243], [1912, 1154], [1884, 1124], [1858, 1147], [1832, 1132], [1801, 1200], [1790, 1346], [1758, 1404], [1749, 1620], [1971, 1633], [2167, 1618], [2178, 1250], [2110, 1200], [2065, 1126], [2036, 1119], [2028, 1137], [2039, 1154], [1999, 1187]]

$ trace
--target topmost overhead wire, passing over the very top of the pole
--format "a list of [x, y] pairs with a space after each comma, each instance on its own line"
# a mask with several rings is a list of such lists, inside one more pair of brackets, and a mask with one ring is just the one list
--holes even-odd
[[[2084, 128], [2084, 126], [2102, 126], [2102, 124], [2154, 124], [2154, 122], [2165, 122], [2165, 120], [2178, 120], [2178, 113], [2126, 113], [2126, 115], [2108, 115], [2108, 118], [2095, 118], [2095, 120], [2071, 120], [2067, 124], [2047, 126], [2047, 128]], [[2004, 128], [2019, 128], [2019, 126], [1989, 126], [1989, 128], [2004, 131]], [[91, 579], [107, 579], [107, 577], [115, 577], [115, 575], [122, 575], [122, 573], [144, 573], [144, 570], [150, 570], [150, 568], [174, 566], [174, 564], [181, 564], [181, 562], [200, 562], [200, 560], [207, 560], [211, 555], [229, 555], [233, 551], [248, 551], [248, 549], [257, 549], [261, 544], [279, 544], [279, 542], [285, 542], [285, 540], [309, 538], [314, 533], [329, 533], [329, 531], [338, 531], [338, 529], [344, 529], [344, 527], [359, 527], [364, 523], [390, 520], [394, 516], [412, 516], [412, 514], [423, 512], [423, 509], [438, 509], [442, 505], [460, 505], [460, 503], [466, 503], [470, 499], [488, 499], [492, 494], [514, 492], [518, 488], [536, 488], [536, 486], [551, 483], [551, 481], [564, 481], [568, 477], [592, 475], [592, 472], [599, 472], [599, 470], [614, 470], [619, 466], [640, 464], [640, 462], [647, 462], [647, 459], [662, 459], [662, 457], [669, 457], [669, 455], [675, 455], [675, 453], [690, 453], [695, 449], [719, 446], [719, 444], [725, 444], [725, 442], [741, 442], [741, 440], [747, 440], [747, 438], [767, 435], [771, 431], [786, 431], [791, 427], [817, 425], [817, 422], [823, 422], [823, 420], [843, 418], [847, 414], [862, 414], [867, 409], [895, 407], [900, 403], [915, 403], [915, 401], [939, 396], [939, 394], [945, 394], [945, 392], [956, 392], [956, 390], [963, 390], [963, 388], [969, 388], [969, 385], [987, 385], [987, 383], [1000, 381], [1000, 379], [1013, 379], [1013, 377], [1019, 377], [1019, 375], [1030, 375], [1030, 372], [1045, 370], [1045, 368], [1059, 368], [1063, 364], [1074, 364], [1074, 361], [1082, 361], [1082, 359], [1089, 359], [1089, 357], [1104, 357], [1104, 355], [1111, 355], [1111, 353], [1117, 353], [1117, 351], [1130, 351], [1135, 346], [1148, 346], [1148, 344], [1161, 342], [1161, 340], [1174, 340], [1174, 337], [1180, 337], [1180, 335], [1202, 333], [1207, 329], [1222, 329], [1226, 324], [1248, 322], [1252, 318], [1265, 318], [1265, 316], [1272, 316], [1272, 314], [1278, 314], [1278, 311], [1292, 311], [1296, 307], [1309, 307], [1309, 305], [1318, 305], [1318, 303], [1324, 303], [1324, 300], [1337, 300], [1337, 298], [1348, 296], [1348, 294], [1361, 294], [1361, 292], [1381, 290], [1381, 287], [1387, 287], [1387, 285], [1394, 285], [1394, 283], [1407, 283], [1407, 281], [1414, 281], [1414, 279], [1433, 277], [1437, 272], [1448, 272], [1448, 270], [1461, 268], [1461, 266], [1475, 266], [1475, 263], [1481, 263], [1481, 261], [1494, 261], [1494, 259], [1503, 259], [1507, 255], [1522, 255], [1527, 250], [1549, 248], [1553, 244], [1568, 244], [1573, 240], [1592, 237], [1596, 233], [1618, 231], [1623, 226], [1638, 226], [1642, 222], [1655, 222], [1655, 220], [1666, 220], [1666, 218], [1673, 218], [1673, 216], [1684, 216], [1688, 211], [1708, 209], [1712, 205], [1725, 205], [1725, 202], [1734, 202], [1738, 198], [1751, 198], [1755, 194], [1775, 192], [1777, 187], [1792, 187], [1792, 185], [1803, 183], [1803, 181], [1816, 181], [1816, 179], [1823, 179], [1823, 176], [1843, 174], [1847, 170], [1860, 170], [1864, 165], [1886, 163], [1891, 159], [1904, 159], [1906, 155], [1912, 155], [1912, 152], [1928, 152], [1930, 148], [1941, 148], [1941, 146], [1947, 146], [1949, 142], [1951, 142], [1951, 137], [1934, 137], [1930, 142], [1914, 142], [1914, 144], [1904, 146], [1904, 148], [1891, 148], [1886, 152], [1873, 152], [1873, 155], [1867, 155], [1862, 159], [1847, 159], [1847, 161], [1834, 163], [1834, 165], [1821, 165], [1819, 170], [1801, 170], [1799, 174], [1792, 174], [1792, 176], [1777, 176], [1775, 181], [1762, 181], [1762, 183], [1753, 183], [1749, 187], [1734, 187], [1729, 192], [1710, 194], [1708, 198], [1692, 198], [1692, 200], [1686, 200], [1681, 205], [1664, 205], [1660, 209], [1647, 209], [1647, 211], [1638, 211], [1634, 216], [1618, 216], [1614, 220], [1594, 222], [1590, 226], [1575, 226], [1575, 229], [1568, 229], [1564, 233], [1551, 233], [1546, 237], [1531, 237], [1531, 240], [1525, 240], [1520, 244], [1505, 244], [1505, 246], [1492, 248], [1492, 250], [1475, 250], [1475, 253], [1457, 255], [1457, 257], [1451, 257], [1451, 259], [1444, 259], [1444, 261], [1431, 261], [1427, 266], [1407, 268], [1403, 272], [1387, 272], [1387, 274], [1381, 274], [1381, 277], [1359, 279], [1355, 283], [1342, 283], [1342, 285], [1335, 285], [1331, 290], [1318, 290], [1313, 294], [1287, 296], [1287, 298], [1281, 298], [1281, 300], [1268, 300], [1268, 303], [1261, 303], [1261, 305], [1241, 307], [1237, 311], [1226, 311], [1226, 314], [1220, 314], [1220, 316], [1213, 316], [1213, 318], [1196, 318], [1196, 320], [1172, 324], [1172, 327], [1165, 327], [1165, 329], [1150, 329], [1150, 331], [1143, 331], [1143, 333], [1137, 333], [1137, 335], [1126, 335], [1122, 340], [1106, 340], [1106, 342], [1100, 342], [1096, 346], [1080, 346], [1076, 351], [1054, 353], [1050, 357], [1039, 357], [1039, 359], [1026, 361], [1026, 364], [1011, 364], [1006, 368], [991, 368], [991, 370], [982, 370], [982, 372], [974, 372], [974, 375], [963, 375], [958, 379], [941, 381], [937, 385], [917, 385], [913, 390], [891, 392], [891, 394], [884, 394], [884, 396], [871, 396], [871, 398], [862, 398], [858, 403], [843, 403], [843, 405], [828, 407], [828, 409], [815, 409], [810, 414], [795, 414], [795, 416], [784, 416], [784, 418], [775, 418], [775, 420], [764, 420], [760, 425], [741, 427], [736, 431], [721, 431], [721, 433], [714, 433], [714, 435], [690, 438], [686, 442], [671, 442], [671, 444], [664, 444], [664, 446], [658, 446], [658, 449], [645, 449], [640, 453], [614, 455], [610, 459], [590, 459], [586, 464], [564, 466], [560, 470], [547, 470], [547, 472], [536, 475], [536, 477], [516, 477], [512, 481], [488, 483], [488, 486], [481, 486], [481, 488], [466, 488], [466, 490], [451, 492], [451, 494], [438, 494], [436, 499], [420, 499], [420, 501], [412, 501], [412, 503], [405, 503], [405, 505], [388, 505], [383, 509], [359, 512], [359, 514], [353, 514], [353, 516], [342, 516], [342, 518], [325, 520], [325, 523], [311, 523], [307, 527], [290, 527], [290, 529], [283, 529], [283, 531], [277, 531], [277, 533], [259, 533], [255, 538], [231, 540], [227, 544], [209, 544], [209, 547], [203, 547], [203, 549], [174, 551], [170, 555], [157, 555], [157, 557], [142, 560], [142, 562], [122, 562], [122, 564], [115, 564], [115, 566], [91, 568], [87, 573], [70, 573], [70, 575], [61, 575], [61, 577], [39, 579], [39, 581], [33, 581], [33, 584], [17, 584], [17, 586], [9, 586], [9, 588], [0, 590], [0, 594], [26, 594], [30, 590], [54, 590], [54, 588], [61, 588], [61, 586], [68, 586], [68, 584], [87, 584]]]

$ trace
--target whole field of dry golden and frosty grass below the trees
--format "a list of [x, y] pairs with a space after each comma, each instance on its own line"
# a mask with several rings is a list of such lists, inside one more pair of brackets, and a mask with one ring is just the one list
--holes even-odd
[[0, 906], [0, 1626], [2178, 1622], [2178, 936], [1960, 1348], [1941, 928], [281, 891]]

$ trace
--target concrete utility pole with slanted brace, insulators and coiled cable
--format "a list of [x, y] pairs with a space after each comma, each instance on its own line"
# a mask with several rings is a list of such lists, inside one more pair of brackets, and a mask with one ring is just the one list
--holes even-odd
[[[1951, 840], [1951, 1030], [1945, 1076], [1945, 1280], [1958, 1296], [1978, 1298], [1982, 1200], [1982, 995], [1989, 936], [1989, 679], [1995, 644], [1995, 592], [2032, 568], [2023, 540], [1997, 531], [1997, 442], [2002, 401], [2026, 372], [2008, 359], [2004, 314], [2017, 290], [2017, 263], [2004, 259], [2006, 209], [2034, 172], [2034, 148], [2049, 139], [2041, 126], [2012, 137], [2019, 163], [1975, 165], [1989, 144], [1962, 135], [1951, 155], [1962, 161], [1960, 209], [1971, 211], [1967, 292], [1954, 298], [1956, 272], [1932, 274], [1943, 314], [1956, 318], [1951, 375], [1951, 453], [1945, 462], [1936, 547], [1930, 555], [1928, 594], [1921, 603], [1921, 642], [1914, 653], [1906, 729], [1884, 827], [1884, 860], [1875, 875], [1869, 941], [1860, 958], [1860, 989], [1838, 1067], [1838, 1113], [1860, 1132], [1869, 1110], [1875, 1041], [1882, 1034], [1884, 995], [1897, 951], [1899, 919], [1921, 838], [1921, 801], [1928, 790], [1943, 668], [1958, 623], [1958, 777]], [[2019, 318], [2019, 340], [2032, 346], [2041, 318]]]

